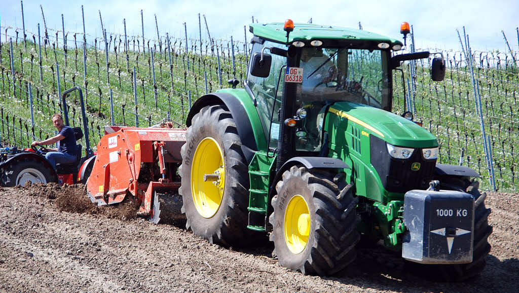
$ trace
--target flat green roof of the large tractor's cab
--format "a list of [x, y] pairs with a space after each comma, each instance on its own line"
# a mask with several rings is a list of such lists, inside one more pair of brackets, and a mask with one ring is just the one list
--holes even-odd
[[283, 30], [283, 22], [272, 22], [272, 23], [252, 23], [249, 25], [249, 30], [254, 35], [268, 39], [269, 41], [276, 43], [292, 43], [295, 41], [301, 41], [309, 43], [313, 40], [319, 40], [323, 43], [359, 43], [359, 42], [370, 42], [370, 43], [389, 43], [393, 45], [402, 45], [400, 41], [387, 36], [363, 31], [356, 29], [342, 28], [340, 26], [331, 25], [318, 25], [311, 23], [294, 23], [294, 31], [289, 35], [289, 39], [286, 39], [286, 32]]

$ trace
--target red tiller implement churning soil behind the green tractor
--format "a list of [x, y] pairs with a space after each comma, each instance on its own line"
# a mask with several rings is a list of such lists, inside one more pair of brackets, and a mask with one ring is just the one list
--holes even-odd
[[105, 135], [87, 183], [90, 200], [99, 206], [116, 204], [131, 193], [141, 203], [139, 216], [154, 223], [182, 217], [176, 170], [185, 135], [185, 129], [135, 127]]

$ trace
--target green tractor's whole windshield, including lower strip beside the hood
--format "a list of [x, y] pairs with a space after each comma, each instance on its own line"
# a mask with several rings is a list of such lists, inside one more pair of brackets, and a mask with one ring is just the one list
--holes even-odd
[[357, 102], [387, 109], [390, 101], [388, 53], [381, 50], [301, 48], [296, 107], [307, 110], [296, 150], [319, 151], [322, 116], [332, 102]]

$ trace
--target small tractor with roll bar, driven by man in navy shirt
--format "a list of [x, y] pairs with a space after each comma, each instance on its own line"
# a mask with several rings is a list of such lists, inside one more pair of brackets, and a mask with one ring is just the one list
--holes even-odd
[[81, 157], [83, 147], [78, 144], [77, 161], [73, 164], [56, 164], [56, 169], [45, 158], [48, 149], [39, 145], [36, 147], [19, 150], [16, 146], [0, 149], [0, 186], [13, 187], [25, 185], [26, 182], [49, 183], [56, 182], [60, 185], [65, 183], [75, 184], [82, 182], [86, 184], [86, 179], [90, 175], [93, 166], [94, 153], [90, 149], [88, 140], [88, 123], [85, 114], [83, 92], [79, 87], [73, 87], [63, 92], [61, 97], [64, 107], [63, 118], [66, 126], [69, 126], [69, 116], [67, 114], [66, 96], [70, 92], [79, 92], [81, 114], [83, 115], [83, 130], [81, 127], [74, 127], [76, 140], [85, 135], [86, 155]]

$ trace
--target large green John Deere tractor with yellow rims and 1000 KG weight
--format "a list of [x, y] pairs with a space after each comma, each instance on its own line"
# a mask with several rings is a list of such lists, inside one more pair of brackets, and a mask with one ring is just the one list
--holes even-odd
[[[492, 228], [479, 175], [437, 163], [436, 138], [391, 113], [393, 70], [429, 52], [397, 55], [396, 39], [291, 20], [250, 32], [244, 88], [229, 80], [187, 117], [186, 228], [235, 247], [268, 233], [279, 263], [304, 274], [342, 271], [361, 238], [436, 279], [480, 273]], [[444, 75], [434, 58], [432, 79]]]

